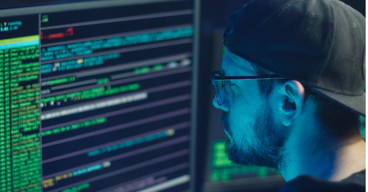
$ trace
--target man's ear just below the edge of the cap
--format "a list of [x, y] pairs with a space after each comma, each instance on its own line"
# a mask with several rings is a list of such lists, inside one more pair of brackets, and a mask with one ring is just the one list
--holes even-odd
[[282, 94], [281, 121], [289, 126], [303, 111], [305, 89], [299, 81], [290, 80], [282, 86]]

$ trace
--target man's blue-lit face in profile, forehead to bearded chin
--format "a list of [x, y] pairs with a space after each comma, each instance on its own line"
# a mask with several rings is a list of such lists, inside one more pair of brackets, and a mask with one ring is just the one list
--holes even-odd
[[[226, 76], [257, 75], [248, 61], [227, 49], [222, 72]], [[273, 125], [272, 93], [267, 98], [261, 95], [257, 80], [231, 80], [227, 84], [223, 104], [219, 106], [214, 99], [213, 105], [223, 110], [221, 122], [229, 137], [229, 159], [237, 164], [277, 168], [284, 139]]]

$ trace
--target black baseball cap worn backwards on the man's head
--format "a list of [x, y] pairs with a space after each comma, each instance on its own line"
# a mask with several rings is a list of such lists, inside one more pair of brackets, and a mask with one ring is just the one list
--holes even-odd
[[239, 57], [365, 116], [365, 18], [339, 0], [253, 0], [223, 43]]

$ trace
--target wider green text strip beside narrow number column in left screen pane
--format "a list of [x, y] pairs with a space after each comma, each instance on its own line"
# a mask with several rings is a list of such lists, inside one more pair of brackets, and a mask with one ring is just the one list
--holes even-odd
[[[13, 48], [10, 53], [10, 124], [13, 191], [40, 186], [39, 46]], [[9, 85], [8, 84], [8, 85]], [[31, 133], [31, 134], [30, 134]]]

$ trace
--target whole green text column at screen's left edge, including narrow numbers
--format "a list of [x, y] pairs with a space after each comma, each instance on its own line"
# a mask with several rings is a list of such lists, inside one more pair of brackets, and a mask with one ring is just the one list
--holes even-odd
[[14, 48], [0, 50], [1, 191], [40, 191], [39, 45], [5, 45]]

